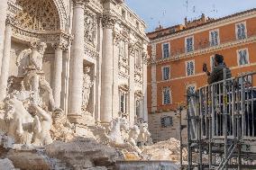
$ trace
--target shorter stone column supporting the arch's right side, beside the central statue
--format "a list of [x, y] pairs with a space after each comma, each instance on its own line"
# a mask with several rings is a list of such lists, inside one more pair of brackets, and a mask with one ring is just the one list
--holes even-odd
[[63, 60], [63, 49], [62, 44], [54, 44], [55, 49], [55, 60], [54, 60], [54, 72], [53, 72], [53, 98], [55, 101], [55, 106], [60, 107], [60, 94], [61, 94], [61, 81], [62, 81], [62, 60]]

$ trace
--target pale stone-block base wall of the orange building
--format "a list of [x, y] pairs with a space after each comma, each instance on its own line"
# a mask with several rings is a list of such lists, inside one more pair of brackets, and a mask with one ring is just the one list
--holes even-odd
[[[161, 118], [172, 118], [172, 126], [163, 127], [161, 125]], [[182, 112], [182, 124], [186, 125], [186, 112]], [[153, 142], [168, 140], [170, 138], [179, 140], [179, 116], [175, 112], [155, 112], [149, 114], [149, 130], [151, 131], [151, 138]], [[182, 130], [183, 143], [187, 142], [187, 129]]]

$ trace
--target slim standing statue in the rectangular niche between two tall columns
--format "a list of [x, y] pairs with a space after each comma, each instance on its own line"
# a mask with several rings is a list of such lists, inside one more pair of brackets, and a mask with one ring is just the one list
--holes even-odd
[[86, 67], [85, 74], [83, 77], [84, 85], [83, 85], [83, 110], [86, 111], [87, 105], [90, 99], [90, 92], [91, 87], [94, 85], [94, 83], [91, 80], [91, 77], [89, 76], [90, 67]]

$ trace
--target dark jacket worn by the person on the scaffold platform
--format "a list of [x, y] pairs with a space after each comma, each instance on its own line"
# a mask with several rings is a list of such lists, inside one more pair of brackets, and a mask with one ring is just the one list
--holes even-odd
[[226, 68], [226, 78], [231, 78], [232, 74], [230, 69], [224, 64], [219, 64], [217, 67], [214, 67], [211, 75], [208, 76], [208, 84], [213, 84], [215, 82], [224, 80], [224, 68]]

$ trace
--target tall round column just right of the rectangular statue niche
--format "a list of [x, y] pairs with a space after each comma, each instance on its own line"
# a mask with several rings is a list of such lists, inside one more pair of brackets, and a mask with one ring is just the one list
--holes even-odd
[[114, 16], [103, 16], [101, 121], [110, 122], [113, 114], [113, 28]]

